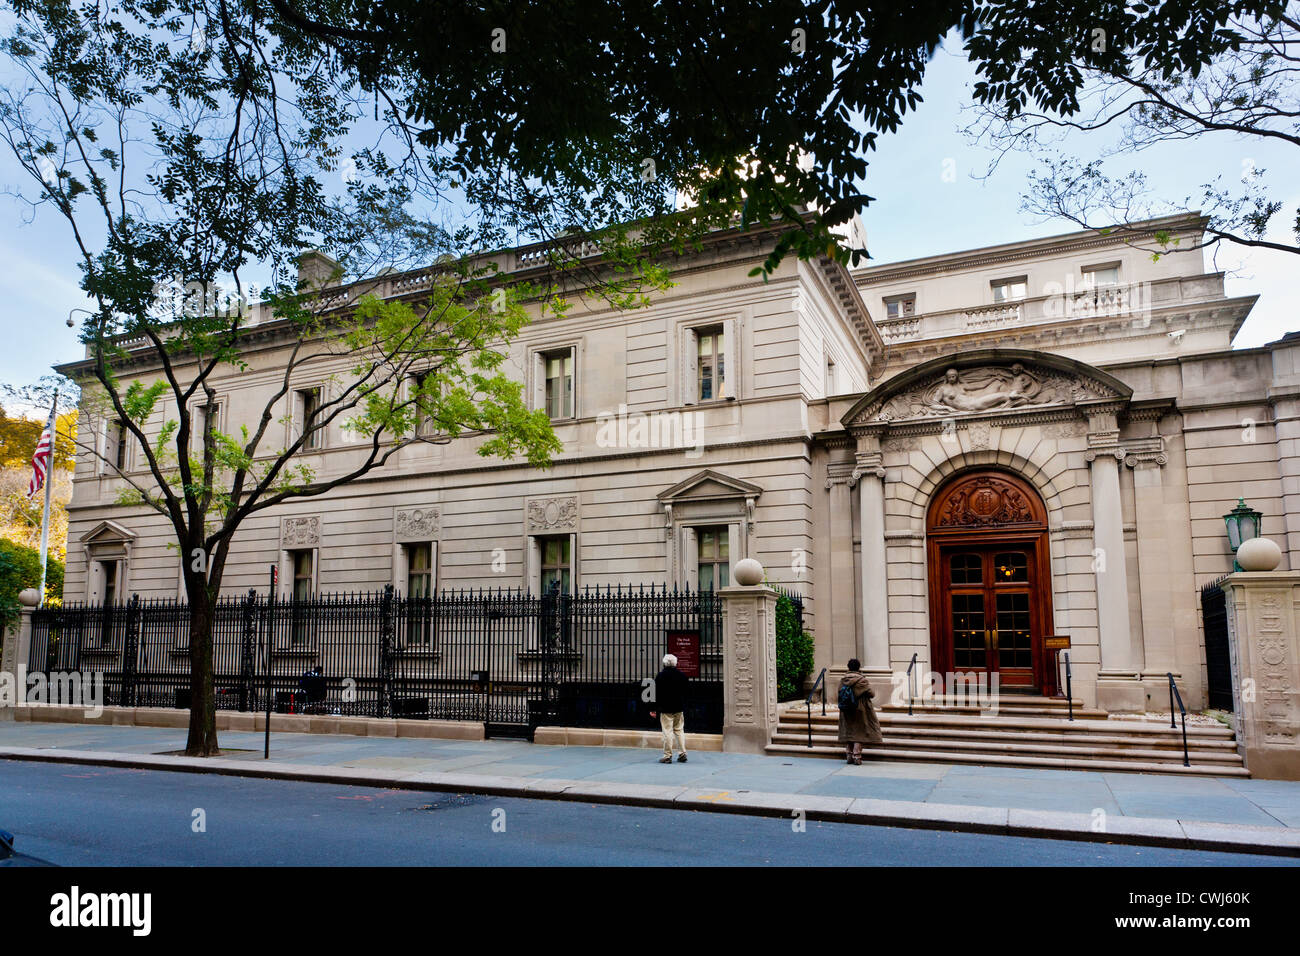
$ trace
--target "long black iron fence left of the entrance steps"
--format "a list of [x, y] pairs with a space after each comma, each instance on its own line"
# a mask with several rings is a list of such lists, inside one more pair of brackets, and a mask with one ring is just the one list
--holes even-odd
[[[800, 609], [802, 610], [802, 609]], [[177, 600], [66, 604], [32, 614], [29, 669], [100, 672], [104, 704], [190, 706], [190, 607]], [[723, 723], [720, 598], [664, 587], [382, 592], [213, 607], [217, 708], [650, 728], [670, 633], [698, 635], [686, 726]], [[308, 671], [320, 692], [308, 700]]]

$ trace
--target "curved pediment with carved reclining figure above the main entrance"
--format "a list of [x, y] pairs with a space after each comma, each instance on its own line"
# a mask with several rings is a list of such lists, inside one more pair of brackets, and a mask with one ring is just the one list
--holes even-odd
[[1109, 372], [1050, 352], [980, 349], [924, 362], [881, 382], [840, 419], [846, 428], [1019, 415], [1128, 401]]

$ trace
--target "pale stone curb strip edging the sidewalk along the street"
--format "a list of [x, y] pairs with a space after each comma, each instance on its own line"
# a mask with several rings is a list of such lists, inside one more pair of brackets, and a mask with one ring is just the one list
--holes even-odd
[[0, 760], [23, 760], [79, 766], [116, 766], [164, 773], [217, 774], [306, 783], [339, 783], [432, 792], [469, 792], [534, 800], [569, 800], [590, 804], [659, 809], [790, 817], [826, 823], [889, 826], [909, 830], [948, 830], [1001, 836], [1113, 843], [1173, 849], [1300, 857], [1300, 832], [1212, 821], [1149, 817], [1112, 817], [1105, 831], [1092, 829], [1092, 816], [1056, 810], [927, 804], [875, 797], [837, 797], [764, 791], [706, 791], [672, 784], [612, 780], [559, 780], [463, 771], [352, 770], [338, 766], [286, 763], [222, 757], [161, 757], [157, 754], [73, 750], [48, 747], [0, 747]]

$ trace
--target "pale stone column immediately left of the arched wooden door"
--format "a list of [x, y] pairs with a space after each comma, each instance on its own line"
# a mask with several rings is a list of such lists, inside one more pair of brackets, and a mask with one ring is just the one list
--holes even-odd
[[[885, 470], [881, 464], [880, 436], [858, 437], [858, 501], [862, 509], [862, 662], [863, 672], [878, 682], [889, 682], [889, 566], [885, 557]], [[836, 662], [840, 663], [840, 662]], [[842, 663], [840, 665], [842, 666]]]

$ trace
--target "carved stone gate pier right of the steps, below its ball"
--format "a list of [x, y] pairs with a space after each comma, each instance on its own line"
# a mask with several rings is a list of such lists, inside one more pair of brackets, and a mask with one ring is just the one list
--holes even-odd
[[1300, 780], [1300, 572], [1223, 583], [1238, 747], [1252, 777]]

